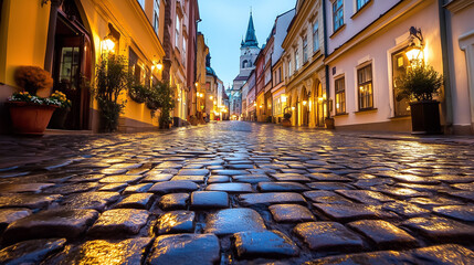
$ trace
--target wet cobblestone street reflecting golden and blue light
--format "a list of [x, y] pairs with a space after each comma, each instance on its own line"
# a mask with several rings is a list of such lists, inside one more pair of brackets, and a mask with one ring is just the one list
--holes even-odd
[[2, 136], [0, 264], [474, 264], [474, 146], [446, 142], [241, 121]]

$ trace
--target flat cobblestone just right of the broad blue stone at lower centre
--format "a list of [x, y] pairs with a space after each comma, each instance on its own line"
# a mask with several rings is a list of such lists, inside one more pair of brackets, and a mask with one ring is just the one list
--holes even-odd
[[278, 223], [301, 223], [316, 221], [313, 213], [299, 204], [276, 204], [268, 206], [273, 219]]

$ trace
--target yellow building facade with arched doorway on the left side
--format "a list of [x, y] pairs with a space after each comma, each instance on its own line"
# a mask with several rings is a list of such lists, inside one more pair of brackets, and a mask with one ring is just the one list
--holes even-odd
[[[3, 0], [0, 26], [0, 104], [15, 91], [19, 65], [44, 67], [54, 78], [53, 89], [73, 102], [67, 128], [98, 129], [97, 104], [91, 95], [95, 67], [102, 55], [124, 55], [144, 85], [161, 78], [165, 2], [162, 0]], [[120, 95], [126, 107], [119, 130], [157, 127], [157, 113], [146, 104]], [[1, 108], [2, 127], [8, 126]]]

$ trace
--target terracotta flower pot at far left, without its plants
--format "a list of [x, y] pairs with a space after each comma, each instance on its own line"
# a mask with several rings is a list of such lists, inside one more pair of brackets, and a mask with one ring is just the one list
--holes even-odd
[[13, 131], [20, 135], [43, 135], [56, 106], [9, 102]]

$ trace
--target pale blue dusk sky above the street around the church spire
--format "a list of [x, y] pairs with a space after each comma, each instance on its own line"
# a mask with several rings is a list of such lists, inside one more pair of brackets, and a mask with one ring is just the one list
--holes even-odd
[[204, 34], [211, 53], [211, 66], [225, 87], [239, 74], [240, 44], [245, 38], [252, 7], [259, 46], [266, 42], [275, 18], [295, 7], [294, 0], [199, 0]]

